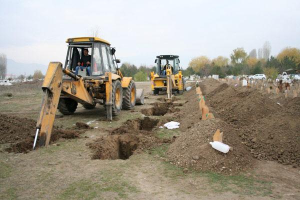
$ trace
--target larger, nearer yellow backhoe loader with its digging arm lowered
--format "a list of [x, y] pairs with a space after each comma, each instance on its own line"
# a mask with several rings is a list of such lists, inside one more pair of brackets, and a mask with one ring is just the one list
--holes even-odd
[[[86, 109], [103, 103], [106, 117], [111, 120], [121, 108], [132, 109], [136, 100], [143, 104], [142, 90], [136, 90], [132, 77], [121, 74], [117, 67], [120, 60], [115, 58], [115, 48], [110, 47], [108, 41], [98, 37], [75, 37], [68, 38], [66, 43], [64, 67], [60, 62], [50, 62], [42, 83], [43, 99], [33, 149], [38, 135], [39, 146], [49, 144], [57, 108], [63, 114], [72, 114], [78, 102]], [[86, 66], [82, 62], [79, 67], [83, 51], [91, 52], [90, 62]]]

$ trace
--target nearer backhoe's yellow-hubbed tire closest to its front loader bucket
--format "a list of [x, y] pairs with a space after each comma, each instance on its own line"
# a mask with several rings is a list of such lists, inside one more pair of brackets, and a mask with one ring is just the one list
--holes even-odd
[[123, 88], [123, 104], [124, 109], [132, 109], [136, 101], [136, 87], [134, 80], [130, 80], [128, 87]]

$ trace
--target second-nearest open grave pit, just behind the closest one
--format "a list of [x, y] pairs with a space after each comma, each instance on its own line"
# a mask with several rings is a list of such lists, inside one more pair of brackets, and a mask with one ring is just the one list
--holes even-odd
[[149, 134], [148, 131], [151, 131], [158, 123], [159, 119], [152, 119], [148, 116], [145, 116], [143, 119], [129, 119], [122, 126], [115, 128], [111, 131], [111, 134], [123, 134], [123, 133], [132, 133], [140, 132], [143, 134]]

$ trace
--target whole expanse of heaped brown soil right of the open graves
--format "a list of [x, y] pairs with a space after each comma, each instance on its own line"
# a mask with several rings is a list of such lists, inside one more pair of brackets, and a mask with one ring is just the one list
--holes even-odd
[[[168, 161], [225, 173], [250, 168], [252, 157], [300, 166], [300, 98], [280, 106], [251, 88], [234, 88], [213, 79], [200, 82], [200, 87], [216, 119], [200, 120], [193, 86], [185, 93], [188, 102], [173, 113], [183, 133], [170, 145]], [[209, 145], [217, 128], [224, 133], [223, 142], [233, 148], [227, 154]]]

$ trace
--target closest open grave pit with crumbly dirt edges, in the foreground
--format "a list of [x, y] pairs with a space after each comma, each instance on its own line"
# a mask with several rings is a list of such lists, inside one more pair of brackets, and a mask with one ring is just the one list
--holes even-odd
[[124, 133], [103, 136], [86, 145], [93, 150], [91, 159], [128, 159], [134, 152], [168, 142], [153, 135]]

